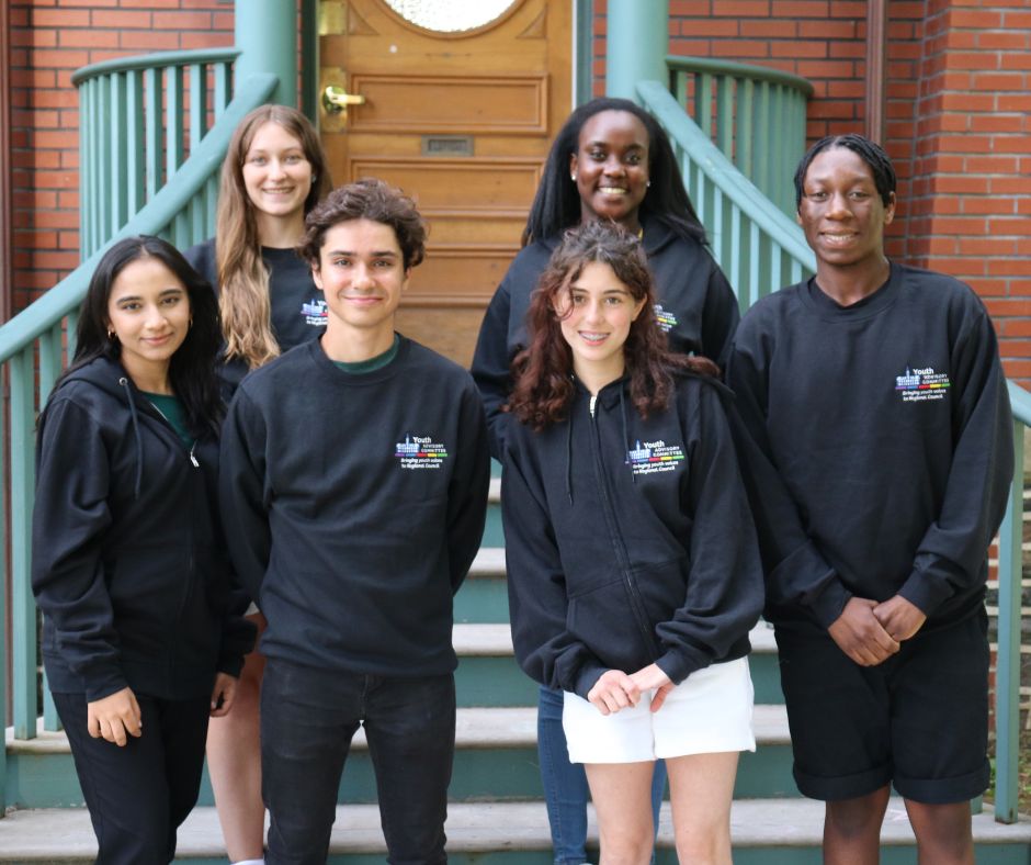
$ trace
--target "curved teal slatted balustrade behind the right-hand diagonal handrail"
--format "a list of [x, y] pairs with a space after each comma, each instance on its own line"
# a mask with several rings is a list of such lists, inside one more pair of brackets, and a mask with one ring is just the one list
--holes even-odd
[[737, 169], [788, 216], [792, 177], [805, 153], [806, 79], [763, 66], [707, 57], [666, 58], [681, 108]]

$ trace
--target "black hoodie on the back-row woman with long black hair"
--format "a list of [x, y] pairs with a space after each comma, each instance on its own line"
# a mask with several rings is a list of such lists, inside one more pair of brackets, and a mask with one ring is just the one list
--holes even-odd
[[[497, 459], [505, 450], [509, 417], [501, 406], [512, 390], [512, 358], [526, 345], [530, 295], [558, 240], [536, 240], [516, 256], [479, 328], [472, 373], [484, 397], [490, 452]], [[702, 355], [723, 367], [740, 319], [737, 299], [723, 271], [705, 247], [673, 234], [660, 222], [645, 222], [644, 247], [655, 280], [656, 317], [669, 347], [683, 355]]]

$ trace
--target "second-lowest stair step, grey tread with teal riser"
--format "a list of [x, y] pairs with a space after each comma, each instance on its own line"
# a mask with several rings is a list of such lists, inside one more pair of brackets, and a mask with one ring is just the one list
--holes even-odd
[[[741, 798], [797, 796], [782, 706], [757, 706], [756, 753], [743, 754], [735, 793]], [[460, 709], [450, 798], [456, 802], [543, 797], [536, 746], [536, 708]], [[68, 740], [41, 729], [36, 739], [8, 735], [8, 801], [19, 808], [76, 807], [83, 802]], [[375, 775], [363, 730], [354, 737], [338, 801], [376, 801]], [[205, 771], [201, 805], [214, 802]]]

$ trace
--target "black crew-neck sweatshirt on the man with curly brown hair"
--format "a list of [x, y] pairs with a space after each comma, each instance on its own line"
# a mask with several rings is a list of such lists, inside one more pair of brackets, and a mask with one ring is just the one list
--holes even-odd
[[309, 341], [245, 379], [222, 440], [222, 510], [262, 651], [384, 676], [456, 665], [452, 597], [484, 530], [483, 406], [468, 373], [404, 337], [373, 372]]

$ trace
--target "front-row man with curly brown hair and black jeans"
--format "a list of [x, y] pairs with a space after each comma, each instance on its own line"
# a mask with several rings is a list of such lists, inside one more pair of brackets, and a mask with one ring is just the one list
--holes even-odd
[[335, 190], [299, 248], [328, 310], [319, 341], [240, 385], [222, 506], [268, 619], [261, 694], [267, 861], [325, 863], [364, 727], [390, 862], [441, 863], [454, 753], [452, 598], [489, 483], [468, 373], [394, 330], [426, 228], [378, 180]]

